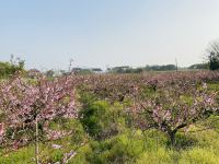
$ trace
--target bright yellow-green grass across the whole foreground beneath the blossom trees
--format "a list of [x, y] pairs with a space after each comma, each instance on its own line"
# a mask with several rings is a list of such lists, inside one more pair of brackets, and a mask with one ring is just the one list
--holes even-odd
[[[197, 130], [197, 132], [194, 132]], [[187, 147], [171, 149], [166, 144], [166, 137], [155, 130], [131, 132], [127, 130], [104, 141], [90, 140], [88, 144], [77, 150], [77, 155], [69, 162], [76, 164], [104, 164], [104, 163], [138, 163], [138, 164], [218, 164], [219, 163], [219, 133], [210, 129], [199, 131], [193, 127], [186, 136], [178, 132], [177, 142]], [[187, 139], [187, 140], [186, 140]], [[188, 141], [194, 141], [191, 144]], [[41, 160], [44, 163], [57, 162], [74, 149], [66, 138], [53, 143], [62, 145], [54, 150], [51, 142], [41, 144]], [[182, 143], [183, 142], [183, 143]], [[1, 164], [31, 164], [34, 163], [34, 145], [22, 148], [0, 156]]]

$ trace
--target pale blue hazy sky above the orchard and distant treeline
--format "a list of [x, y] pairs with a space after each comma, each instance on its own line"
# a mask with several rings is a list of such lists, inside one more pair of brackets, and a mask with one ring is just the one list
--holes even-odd
[[0, 0], [0, 61], [27, 69], [203, 62], [218, 0]]

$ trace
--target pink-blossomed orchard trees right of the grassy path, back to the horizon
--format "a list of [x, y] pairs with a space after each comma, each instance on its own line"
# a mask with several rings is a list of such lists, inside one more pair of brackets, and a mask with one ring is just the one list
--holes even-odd
[[218, 80], [217, 72], [175, 72], [143, 78], [90, 77], [87, 90], [112, 104], [131, 99], [127, 113], [135, 127], [158, 129], [166, 133], [171, 144], [175, 145], [175, 134], [180, 129], [218, 114], [218, 93], [209, 91], [205, 83]]

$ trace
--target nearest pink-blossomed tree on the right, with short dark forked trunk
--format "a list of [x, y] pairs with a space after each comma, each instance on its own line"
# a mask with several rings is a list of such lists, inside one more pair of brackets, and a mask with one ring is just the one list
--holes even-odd
[[208, 92], [206, 83], [201, 86], [192, 82], [164, 85], [147, 97], [135, 97], [132, 113], [137, 115], [138, 127], [161, 130], [175, 145], [175, 134], [180, 129], [219, 110], [216, 96], [217, 93]]

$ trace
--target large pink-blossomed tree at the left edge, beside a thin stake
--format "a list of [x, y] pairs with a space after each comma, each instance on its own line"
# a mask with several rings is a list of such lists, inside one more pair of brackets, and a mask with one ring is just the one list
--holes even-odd
[[0, 87], [0, 144], [16, 149], [34, 141], [39, 163], [39, 127], [48, 139], [61, 138], [68, 132], [50, 130], [48, 122], [61, 117], [77, 118], [77, 109], [73, 77], [38, 77], [32, 81], [14, 77], [4, 81]]

